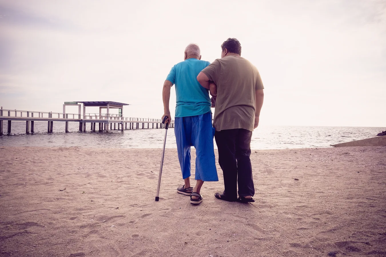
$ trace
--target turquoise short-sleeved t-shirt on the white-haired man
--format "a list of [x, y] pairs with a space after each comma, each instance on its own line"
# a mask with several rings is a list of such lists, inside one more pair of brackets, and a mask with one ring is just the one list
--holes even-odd
[[210, 112], [209, 90], [197, 81], [198, 73], [210, 62], [195, 58], [186, 59], [171, 68], [166, 80], [176, 84], [176, 118], [196, 116]]

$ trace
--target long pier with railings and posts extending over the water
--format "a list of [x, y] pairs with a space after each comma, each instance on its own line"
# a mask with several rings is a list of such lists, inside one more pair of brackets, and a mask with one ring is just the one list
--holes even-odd
[[[52, 113], [37, 111], [19, 110], [0, 110], [0, 135], [3, 135], [4, 121], [7, 121], [7, 134], [11, 133], [12, 121], [24, 121], [25, 133], [34, 133], [35, 121], [46, 121], [47, 132], [52, 133], [54, 121], [64, 122], [63, 129], [68, 132], [69, 122], [79, 122], [79, 131], [87, 131], [86, 124], [90, 124], [89, 131], [108, 132], [110, 130], [129, 130], [129, 129], [155, 129], [165, 128], [161, 119], [149, 118], [129, 118], [122, 114], [109, 113]], [[97, 126], [98, 124], [98, 126]], [[169, 124], [169, 128], [174, 128], [174, 120]]]

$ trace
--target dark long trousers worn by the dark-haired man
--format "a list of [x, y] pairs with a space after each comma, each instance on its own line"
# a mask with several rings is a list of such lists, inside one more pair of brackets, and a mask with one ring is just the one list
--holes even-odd
[[252, 131], [246, 129], [225, 129], [216, 131], [215, 139], [218, 148], [218, 163], [224, 176], [224, 195], [237, 199], [239, 196], [253, 196], [255, 187], [251, 165]]

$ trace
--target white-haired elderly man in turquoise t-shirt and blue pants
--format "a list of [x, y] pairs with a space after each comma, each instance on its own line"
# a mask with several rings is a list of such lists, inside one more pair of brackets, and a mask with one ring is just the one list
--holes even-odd
[[[200, 48], [189, 44], [185, 49], [184, 61], [174, 65], [164, 82], [162, 97], [164, 116], [171, 120], [169, 110], [170, 89], [176, 85], [176, 135], [179, 165], [184, 185], [177, 193], [190, 195], [190, 203], [199, 204], [203, 197], [200, 189], [204, 181], [218, 181], [213, 149], [213, 126], [211, 102], [208, 89], [200, 86], [196, 77], [210, 63], [201, 60]], [[162, 118], [163, 118], [162, 117]], [[196, 186], [190, 186], [190, 148], [196, 148]]]

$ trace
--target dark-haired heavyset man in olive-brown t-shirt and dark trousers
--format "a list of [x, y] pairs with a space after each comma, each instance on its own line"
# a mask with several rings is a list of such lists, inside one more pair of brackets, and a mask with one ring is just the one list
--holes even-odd
[[254, 202], [251, 138], [259, 124], [264, 87], [256, 67], [240, 57], [241, 45], [237, 39], [227, 39], [221, 48], [221, 59], [197, 76], [203, 87], [210, 88], [213, 95], [217, 93], [213, 125], [225, 190], [215, 197], [229, 202]]

